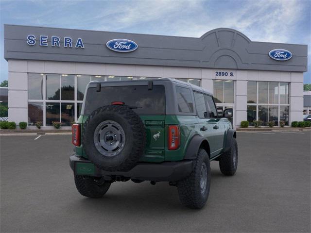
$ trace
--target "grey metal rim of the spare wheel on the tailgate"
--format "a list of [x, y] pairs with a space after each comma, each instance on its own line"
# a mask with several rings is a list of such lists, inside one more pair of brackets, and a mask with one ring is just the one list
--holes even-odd
[[118, 155], [125, 146], [125, 133], [121, 125], [113, 120], [105, 120], [94, 131], [94, 145], [104, 156]]

